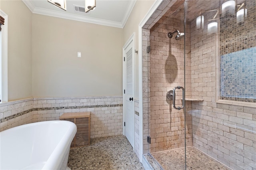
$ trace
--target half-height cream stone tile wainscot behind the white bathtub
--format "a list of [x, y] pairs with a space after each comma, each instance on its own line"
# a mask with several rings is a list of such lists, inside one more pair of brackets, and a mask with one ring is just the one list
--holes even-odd
[[70, 112], [91, 112], [91, 138], [122, 134], [122, 97], [36, 98], [1, 103], [0, 130], [59, 120], [60, 115]]

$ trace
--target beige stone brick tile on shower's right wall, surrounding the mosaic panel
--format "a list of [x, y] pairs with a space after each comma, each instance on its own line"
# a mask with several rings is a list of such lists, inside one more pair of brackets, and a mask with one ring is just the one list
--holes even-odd
[[196, 30], [196, 20], [191, 22], [192, 97], [204, 100], [192, 103], [193, 146], [232, 169], [255, 169], [256, 108], [216, 103], [218, 35], [206, 29]]

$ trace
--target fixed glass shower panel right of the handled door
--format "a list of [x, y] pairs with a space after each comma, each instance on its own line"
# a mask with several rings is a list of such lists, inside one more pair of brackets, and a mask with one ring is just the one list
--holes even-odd
[[186, 148], [186, 168], [251, 169], [255, 162], [244, 153], [255, 148], [247, 140], [254, 131], [243, 115], [255, 108], [256, 1], [186, 0], [184, 6], [186, 131], [192, 126], [186, 146], [193, 146]]

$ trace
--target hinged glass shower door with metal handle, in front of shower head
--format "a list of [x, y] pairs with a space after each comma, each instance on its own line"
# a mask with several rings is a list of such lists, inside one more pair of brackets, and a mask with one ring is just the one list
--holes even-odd
[[184, 28], [184, 2], [177, 1], [150, 29], [148, 148], [163, 169], [185, 169]]

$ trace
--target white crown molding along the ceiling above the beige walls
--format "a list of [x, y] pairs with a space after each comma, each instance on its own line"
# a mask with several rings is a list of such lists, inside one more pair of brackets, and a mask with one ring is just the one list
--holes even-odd
[[132, 12], [132, 9], [136, 3], [136, 0], [130, 0], [128, 7], [126, 9], [126, 12], [124, 14], [124, 17], [122, 18], [122, 21], [114, 22], [114, 21], [109, 21], [109, 20], [92, 18], [92, 17], [88, 17], [88, 16], [80, 16], [80, 15], [75, 15], [75, 14], [68, 14], [65, 12], [47, 10], [44, 8], [38, 8], [38, 7], [35, 7], [30, 0], [22, 0], [22, 1], [28, 7], [28, 9], [34, 14], [53, 16], [53, 17], [64, 18], [64, 19], [68, 19], [68, 20], [88, 22], [88, 23], [92, 23], [92, 24], [99, 24], [99, 25], [111, 26], [111, 27], [117, 27], [117, 28], [124, 28], [130, 14]]

